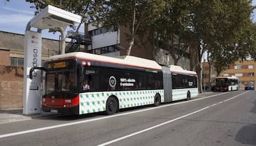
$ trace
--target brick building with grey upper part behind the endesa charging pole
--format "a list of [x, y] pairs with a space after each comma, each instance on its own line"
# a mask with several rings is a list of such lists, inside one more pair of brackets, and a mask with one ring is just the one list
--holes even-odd
[[[0, 110], [23, 107], [25, 36], [0, 31]], [[42, 60], [59, 54], [59, 41], [42, 39]]]

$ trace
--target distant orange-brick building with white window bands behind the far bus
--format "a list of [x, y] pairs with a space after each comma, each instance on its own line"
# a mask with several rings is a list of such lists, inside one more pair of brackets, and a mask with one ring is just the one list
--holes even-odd
[[[203, 71], [203, 83], [214, 84], [217, 73], [216, 68], [211, 67], [211, 73], [209, 73], [208, 62], [202, 63]], [[240, 89], [244, 89], [246, 83], [256, 83], [256, 62], [254, 60], [236, 61], [234, 65], [229, 65], [228, 70], [224, 70], [220, 76], [236, 76], [239, 79]]]

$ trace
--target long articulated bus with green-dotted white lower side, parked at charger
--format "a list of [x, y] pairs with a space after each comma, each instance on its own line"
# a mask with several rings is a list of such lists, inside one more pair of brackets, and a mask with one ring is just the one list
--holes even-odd
[[[121, 108], [158, 106], [198, 95], [197, 74], [133, 56], [119, 58], [72, 52], [46, 60], [41, 107], [45, 112], [116, 113]], [[32, 78], [32, 75], [30, 75]]]

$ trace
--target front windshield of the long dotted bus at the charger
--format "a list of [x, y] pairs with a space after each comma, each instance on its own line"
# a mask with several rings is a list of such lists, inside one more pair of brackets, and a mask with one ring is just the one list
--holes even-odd
[[75, 71], [62, 70], [46, 74], [46, 93], [60, 91], [74, 91], [75, 89]]

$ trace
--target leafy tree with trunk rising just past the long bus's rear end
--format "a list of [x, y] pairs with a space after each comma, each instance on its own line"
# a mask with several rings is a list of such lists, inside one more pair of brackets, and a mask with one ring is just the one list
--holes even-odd
[[[190, 26], [196, 38], [194, 44], [199, 44], [193, 48], [198, 54], [195, 62], [198, 78], [202, 77], [201, 60], [205, 51], [211, 54], [212, 60], [218, 59], [215, 66], [227, 67], [228, 63], [233, 63], [238, 56], [244, 56], [241, 51], [234, 51], [234, 44], [239, 38], [239, 32], [249, 24], [253, 10], [251, 2], [206, 0], [191, 7]], [[199, 92], [202, 92], [200, 81], [201, 79], [198, 79]]]

